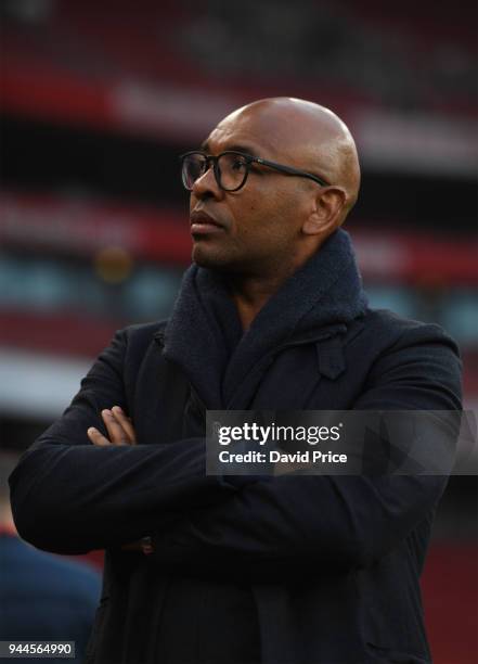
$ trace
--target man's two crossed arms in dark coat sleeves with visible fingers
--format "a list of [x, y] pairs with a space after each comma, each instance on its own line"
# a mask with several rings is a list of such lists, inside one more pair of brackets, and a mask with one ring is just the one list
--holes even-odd
[[[18, 531], [40, 548], [82, 552], [151, 535], [152, 560], [198, 573], [237, 563], [281, 574], [306, 559], [363, 566], [402, 542], [443, 490], [445, 478], [431, 476], [283, 476], [240, 490], [206, 477], [204, 439], [138, 444], [118, 408], [124, 348], [115, 348], [12, 480]], [[458, 380], [445, 345], [404, 344], [377, 363], [356, 408], [456, 409]], [[104, 433], [91, 427], [99, 412]]]

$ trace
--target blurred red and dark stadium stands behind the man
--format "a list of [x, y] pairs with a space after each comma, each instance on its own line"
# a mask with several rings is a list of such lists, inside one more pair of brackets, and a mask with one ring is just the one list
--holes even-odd
[[[190, 259], [178, 154], [275, 94], [350, 126], [372, 304], [442, 324], [478, 411], [476, 3], [1, 0], [0, 434], [29, 445]], [[477, 484], [451, 480], [423, 588], [438, 664], [478, 661]]]

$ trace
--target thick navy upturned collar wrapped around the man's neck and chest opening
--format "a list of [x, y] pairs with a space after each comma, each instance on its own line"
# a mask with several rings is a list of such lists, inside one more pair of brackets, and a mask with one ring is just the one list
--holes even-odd
[[287, 345], [344, 332], [365, 307], [349, 235], [338, 230], [284, 283], [244, 334], [221, 276], [192, 266], [166, 328], [164, 353], [183, 369], [207, 408], [220, 410], [234, 400], [258, 366], [267, 366], [264, 358]]

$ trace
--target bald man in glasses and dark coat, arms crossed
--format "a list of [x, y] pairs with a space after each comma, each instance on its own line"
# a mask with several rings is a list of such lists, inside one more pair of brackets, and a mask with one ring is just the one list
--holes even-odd
[[183, 182], [194, 265], [172, 316], [117, 333], [25, 455], [20, 532], [106, 549], [89, 662], [428, 662], [418, 575], [445, 478], [205, 474], [207, 409], [461, 407], [453, 342], [366, 306], [339, 228], [348, 128], [255, 102], [183, 156]]

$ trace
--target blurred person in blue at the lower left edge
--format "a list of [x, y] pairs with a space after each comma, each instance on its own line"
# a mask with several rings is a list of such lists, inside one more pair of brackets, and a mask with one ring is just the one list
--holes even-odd
[[[0, 449], [0, 640], [75, 641], [76, 656], [68, 661], [79, 663], [101, 578], [87, 564], [38, 551], [18, 537], [8, 490], [8, 477], [17, 461], [17, 452]], [[31, 662], [31, 657], [15, 661]]]

